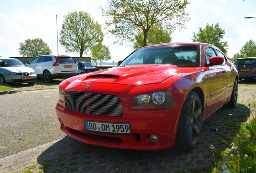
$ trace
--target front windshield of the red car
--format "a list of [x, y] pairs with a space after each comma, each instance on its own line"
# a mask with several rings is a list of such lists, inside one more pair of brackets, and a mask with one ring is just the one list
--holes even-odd
[[119, 66], [139, 64], [173, 64], [182, 67], [200, 66], [199, 45], [166, 45], [140, 48]]

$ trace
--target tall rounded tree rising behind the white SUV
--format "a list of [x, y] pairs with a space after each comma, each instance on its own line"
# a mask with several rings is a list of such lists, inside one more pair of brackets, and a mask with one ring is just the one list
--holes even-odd
[[60, 31], [60, 44], [66, 52], [78, 52], [80, 57], [89, 48], [103, 40], [101, 25], [94, 22], [87, 12], [71, 12], [64, 16]]

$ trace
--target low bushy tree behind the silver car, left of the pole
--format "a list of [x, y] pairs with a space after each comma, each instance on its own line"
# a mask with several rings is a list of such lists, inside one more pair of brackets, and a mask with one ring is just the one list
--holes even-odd
[[27, 39], [25, 42], [20, 42], [19, 45], [19, 54], [29, 57], [35, 57], [39, 55], [52, 54], [51, 48], [48, 46], [46, 42], [43, 42], [41, 38], [34, 38], [32, 40]]

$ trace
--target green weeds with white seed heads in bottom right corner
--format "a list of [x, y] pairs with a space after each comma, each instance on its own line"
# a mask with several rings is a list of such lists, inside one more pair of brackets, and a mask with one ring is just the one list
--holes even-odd
[[[224, 143], [230, 146], [232, 153], [229, 155], [229, 161], [226, 165], [222, 165], [221, 162], [216, 163], [214, 156], [214, 146], [210, 148], [213, 150], [213, 158], [215, 161], [215, 172], [221, 173], [255, 173], [256, 171], [256, 118], [255, 109], [256, 105], [249, 104], [251, 112], [251, 119], [242, 123], [241, 129], [236, 132], [235, 137], [229, 135], [230, 144]], [[234, 147], [235, 146], [235, 147]]]

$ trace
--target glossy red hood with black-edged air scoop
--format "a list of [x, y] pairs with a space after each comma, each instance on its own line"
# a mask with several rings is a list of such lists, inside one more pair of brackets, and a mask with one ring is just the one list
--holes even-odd
[[74, 76], [66, 79], [66, 81], [69, 83], [105, 82], [139, 86], [145, 84], [160, 83], [176, 74], [188, 74], [192, 72], [191, 70], [196, 70], [196, 67], [177, 67], [175, 65], [118, 66], [97, 72]]

